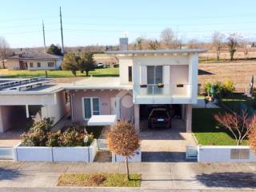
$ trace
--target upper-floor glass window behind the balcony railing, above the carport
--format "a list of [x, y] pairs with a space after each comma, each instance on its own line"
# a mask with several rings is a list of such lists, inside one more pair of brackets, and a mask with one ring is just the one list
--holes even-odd
[[162, 82], [162, 66], [147, 66], [147, 84]]

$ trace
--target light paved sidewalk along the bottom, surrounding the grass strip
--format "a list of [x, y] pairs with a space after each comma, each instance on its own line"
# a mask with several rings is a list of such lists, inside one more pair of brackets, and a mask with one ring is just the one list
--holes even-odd
[[[0, 191], [40, 191], [35, 190], [38, 187], [49, 188], [49, 191], [69, 191], [66, 187], [63, 190], [63, 187], [56, 186], [60, 174], [97, 172], [126, 173], [126, 166], [124, 163], [97, 162], [0, 162]], [[130, 163], [130, 172], [142, 174], [140, 190], [144, 191], [256, 190], [255, 163], [142, 162]], [[70, 191], [81, 189], [85, 191], [88, 188], [78, 187]], [[95, 188], [94, 191], [103, 190]], [[109, 191], [114, 190], [109, 188]]]

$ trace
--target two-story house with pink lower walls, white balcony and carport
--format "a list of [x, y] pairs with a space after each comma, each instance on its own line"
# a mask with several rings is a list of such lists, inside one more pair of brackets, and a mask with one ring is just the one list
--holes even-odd
[[87, 78], [67, 86], [72, 120], [87, 122], [92, 115], [116, 114], [140, 130], [150, 110], [167, 107], [173, 118], [186, 122], [190, 132], [202, 52], [206, 50], [107, 51], [119, 59], [120, 77]]

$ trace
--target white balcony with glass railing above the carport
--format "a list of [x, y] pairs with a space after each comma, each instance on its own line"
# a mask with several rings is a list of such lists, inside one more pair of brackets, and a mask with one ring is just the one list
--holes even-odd
[[192, 102], [192, 85], [134, 85], [136, 104], [186, 104]]

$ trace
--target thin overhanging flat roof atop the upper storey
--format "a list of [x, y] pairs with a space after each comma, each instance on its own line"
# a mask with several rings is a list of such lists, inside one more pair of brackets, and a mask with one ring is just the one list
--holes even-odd
[[116, 50], [105, 51], [106, 54], [196, 54], [204, 53], [206, 49], [181, 49], [181, 50]]

